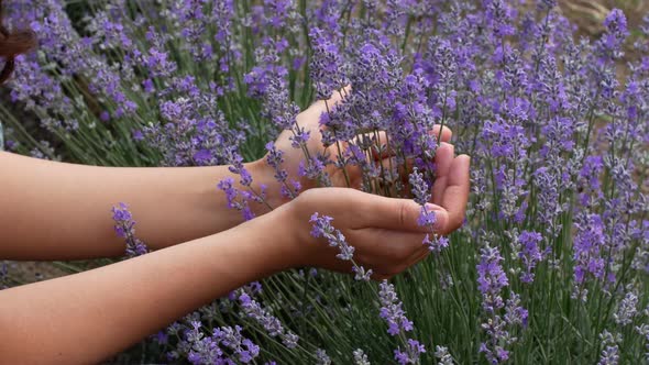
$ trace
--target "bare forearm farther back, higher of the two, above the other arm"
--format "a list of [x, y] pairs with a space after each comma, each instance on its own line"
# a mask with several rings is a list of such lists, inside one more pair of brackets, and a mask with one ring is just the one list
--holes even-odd
[[[255, 184], [264, 181], [249, 165]], [[0, 153], [0, 257], [66, 259], [118, 256], [110, 209], [129, 204], [138, 236], [153, 248], [213, 234], [242, 222], [219, 180], [228, 166], [113, 168]], [[267, 211], [253, 203], [256, 213]]]

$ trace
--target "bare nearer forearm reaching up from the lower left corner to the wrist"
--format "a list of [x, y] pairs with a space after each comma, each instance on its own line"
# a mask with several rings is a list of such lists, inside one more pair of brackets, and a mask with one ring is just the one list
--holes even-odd
[[118, 264], [0, 291], [0, 363], [97, 363], [292, 266], [285, 232], [263, 217]]

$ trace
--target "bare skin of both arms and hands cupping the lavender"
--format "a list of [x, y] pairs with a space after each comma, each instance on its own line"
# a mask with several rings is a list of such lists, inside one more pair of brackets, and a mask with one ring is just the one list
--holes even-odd
[[[298, 117], [312, 131], [309, 148], [315, 153], [324, 148], [318, 143], [324, 110], [326, 102], [319, 101]], [[438, 217], [437, 233], [449, 234], [464, 218], [470, 159], [454, 156], [447, 143], [450, 130], [441, 139], [429, 209]], [[299, 178], [302, 152], [290, 147], [287, 133], [276, 145], [286, 152], [292, 177]], [[231, 176], [227, 166], [108, 168], [0, 153], [0, 257], [120, 256], [124, 244], [110, 214], [120, 201], [129, 203], [138, 235], [155, 250], [0, 291], [0, 363], [99, 362], [252, 280], [302, 266], [349, 273], [351, 267], [336, 258], [333, 248], [310, 236], [308, 221], [316, 211], [333, 218], [355, 247], [354, 259], [372, 268], [375, 279], [392, 277], [428, 254], [421, 244], [427, 229], [416, 223], [420, 207], [411, 200], [343, 188], [344, 178], [332, 172], [338, 187], [308, 189], [287, 201], [263, 158], [246, 167], [255, 184], [270, 186], [268, 202], [275, 209], [260, 204], [260, 217], [242, 223], [216, 188]], [[360, 172], [349, 174], [354, 180]]]

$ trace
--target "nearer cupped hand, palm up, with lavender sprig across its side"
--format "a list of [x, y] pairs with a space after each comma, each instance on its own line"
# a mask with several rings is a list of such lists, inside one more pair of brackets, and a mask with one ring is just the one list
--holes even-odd
[[[462, 225], [469, 199], [469, 156], [453, 158], [452, 147], [446, 145], [439, 154], [439, 184], [432, 188], [436, 212], [435, 233], [446, 235]], [[337, 258], [336, 247], [310, 235], [309, 218], [318, 212], [333, 218], [332, 225], [341, 231], [355, 248], [354, 261], [373, 269], [373, 278], [396, 275], [427, 256], [422, 244], [428, 228], [419, 226], [421, 207], [409, 199], [385, 198], [354, 189], [320, 188], [302, 192], [290, 203], [271, 213], [292, 230], [286, 242], [294, 252], [290, 266], [316, 266], [326, 269], [351, 270], [349, 262]], [[270, 217], [268, 217], [270, 218]], [[279, 224], [279, 223], [278, 223]]]

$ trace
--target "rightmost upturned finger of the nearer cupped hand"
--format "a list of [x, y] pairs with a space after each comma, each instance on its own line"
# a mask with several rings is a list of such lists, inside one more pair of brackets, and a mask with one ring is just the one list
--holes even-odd
[[447, 176], [447, 187], [441, 207], [448, 212], [448, 221], [440, 226], [441, 234], [448, 234], [462, 225], [469, 202], [469, 166], [471, 158], [460, 155], [453, 159]]

